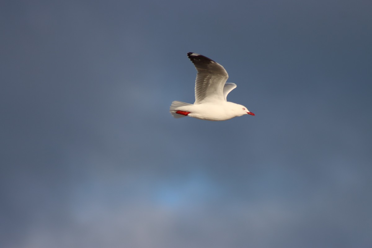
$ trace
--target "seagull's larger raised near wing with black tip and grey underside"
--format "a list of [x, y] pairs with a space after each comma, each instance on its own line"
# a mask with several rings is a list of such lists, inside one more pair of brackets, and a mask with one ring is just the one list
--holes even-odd
[[225, 100], [224, 85], [228, 78], [222, 65], [203, 55], [189, 52], [187, 57], [195, 65], [195, 103], [215, 103]]

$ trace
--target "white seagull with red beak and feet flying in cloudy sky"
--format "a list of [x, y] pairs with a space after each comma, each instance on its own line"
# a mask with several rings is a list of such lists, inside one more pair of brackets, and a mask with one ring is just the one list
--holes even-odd
[[254, 115], [243, 105], [227, 102], [227, 94], [236, 88], [226, 83], [228, 74], [222, 65], [203, 55], [193, 52], [187, 57], [195, 65], [194, 104], [173, 101], [169, 112], [175, 118], [190, 116], [201, 120], [228, 120], [242, 115]]

